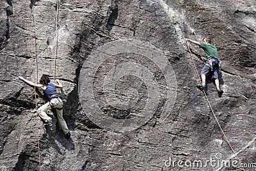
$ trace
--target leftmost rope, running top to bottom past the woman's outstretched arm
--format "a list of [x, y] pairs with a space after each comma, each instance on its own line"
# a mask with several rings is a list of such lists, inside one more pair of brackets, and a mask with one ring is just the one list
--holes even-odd
[[[38, 80], [38, 73], [37, 73], [37, 78], [35, 80], [35, 64], [34, 64], [34, 54], [33, 54], [33, 42], [32, 42], [32, 34], [31, 34], [31, 21], [30, 21], [30, 8], [29, 8], [29, 1], [27, 0], [27, 6], [28, 6], [28, 20], [29, 20], [29, 33], [30, 33], [30, 47], [31, 47], [31, 57], [32, 57], [32, 64], [33, 64], [33, 82], [36, 84], [36, 80]], [[32, 7], [33, 8], [33, 7]], [[32, 10], [33, 13], [33, 10]], [[33, 19], [33, 26], [35, 27], [35, 20]], [[35, 47], [36, 47], [36, 37], [35, 37]], [[36, 57], [36, 67], [38, 66], [37, 64], [37, 57]], [[38, 67], [37, 67], [38, 68]], [[36, 86], [34, 86], [34, 93], [35, 93], [35, 109], [36, 109], [36, 132], [37, 132], [37, 142], [38, 142], [38, 160], [39, 160], [39, 170], [41, 170], [41, 160], [40, 160], [40, 139], [39, 139], [39, 130], [38, 130], [38, 124], [39, 124], [39, 119], [38, 119], [38, 112], [37, 112], [37, 100], [36, 100]]]

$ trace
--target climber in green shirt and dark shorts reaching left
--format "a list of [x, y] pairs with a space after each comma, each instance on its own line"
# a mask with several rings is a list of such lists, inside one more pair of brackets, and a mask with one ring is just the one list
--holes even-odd
[[191, 41], [195, 45], [199, 45], [200, 48], [203, 48], [205, 52], [205, 57], [202, 57], [203, 60], [207, 61], [205, 63], [204, 68], [201, 71], [201, 78], [202, 78], [202, 85], [196, 85], [198, 89], [204, 90], [205, 93], [207, 85], [205, 84], [206, 78], [211, 77], [214, 80], [214, 83], [216, 85], [218, 95], [221, 97], [223, 94], [223, 90], [220, 89], [220, 81], [218, 76], [218, 70], [219, 70], [219, 61], [218, 61], [218, 52], [217, 48], [211, 45], [211, 38], [204, 38], [203, 43], [200, 43], [198, 41], [189, 40], [186, 39], [186, 41]]

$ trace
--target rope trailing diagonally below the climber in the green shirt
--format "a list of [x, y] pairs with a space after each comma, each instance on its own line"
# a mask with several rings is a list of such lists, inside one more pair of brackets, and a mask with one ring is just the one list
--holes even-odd
[[[198, 80], [199, 80], [200, 84], [202, 84], [201, 79], [200, 79], [200, 76], [199, 76], [198, 71], [197, 71], [197, 69], [196, 69], [195, 61], [193, 60], [193, 54], [192, 54], [192, 52], [191, 52], [191, 50], [190, 50], [190, 48], [189, 48], [189, 42], [188, 42], [188, 41], [187, 41], [187, 46], [188, 46], [188, 50], [189, 50], [189, 54], [190, 54], [191, 60], [192, 60], [192, 62], [193, 62], [193, 66], [194, 66], [195, 71], [196, 71], [196, 74], [197, 74], [197, 76], [198, 76]], [[219, 123], [219, 121], [218, 121], [218, 118], [216, 117], [216, 114], [214, 113], [214, 110], [212, 109], [211, 103], [210, 103], [209, 99], [207, 98], [207, 94], [205, 93], [204, 90], [203, 90], [203, 93], [204, 93], [205, 99], [206, 99], [206, 101], [207, 101], [209, 107], [211, 108], [212, 115], [214, 116], [214, 119], [215, 119], [216, 123], [218, 124], [218, 126], [219, 126], [219, 128], [220, 128], [220, 130], [221, 130], [221, 133], [222, 133], [223, 137], [225, 137], [228, 146], [230, 147], [231, 151], [232, 151], [232, 152], [234, 153], [234, 155], [236, 156], [236, 158], [237, 158], [237, 160], [239, 161], [239, 163], [241, 163], [241, 167], [242, 167], [243, 170], [244, 170], [243, 163], [242, 163], [241, 160], [238, 158], [238, 156], [237, 156], [236, 152], [234, 151], [232, 145], [230, 144], [230, 142], [229, 142], [227, 136], [225, 135], [224, 131], [222, 130], [222, 128], [221, 128], [221, 126], [220, 126], [220, 123]]]

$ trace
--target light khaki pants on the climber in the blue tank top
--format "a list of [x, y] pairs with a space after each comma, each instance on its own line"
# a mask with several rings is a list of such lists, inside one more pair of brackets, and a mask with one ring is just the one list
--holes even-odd
[[[63, 131], [64, 134], [68, 133], [68, 126], [67, 123], [65, 122], [65, 120], [63, 119], [63, 110], [58, 110], [57, 108], [62, 108], [62, 101], [60, 98], [53, 98], [51, 100], [51, 103], [54, 107], [56, 107], [56, 112], [57, 112], [57, 117], [58, 117], [58, 121], [61, 127], [61, 130]], [[44, 105], [42, 105], [42, 107], [38, 108], [37, 112], [40, 115], [40, 117], [45, 121], [45, 123], [48, 123], [49, 121], [52, 120], [51, 117], [49, 117], [46, 112], [47, 110], [51, 110], [51, 105], [49, 102], [45, 103]]]

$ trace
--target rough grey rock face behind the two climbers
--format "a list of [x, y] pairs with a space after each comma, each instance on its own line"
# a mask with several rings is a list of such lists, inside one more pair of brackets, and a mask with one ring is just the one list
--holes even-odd
[[[185, 38], [201, 41], [205, 36], [218, 48], [225, 81], [221, 98], [209, 85], [209, 101], [244, 169], [255, 170], [256, 1], [0, 4], [2, 170], [239, 170], [204, 95], [195, 87], [198, 79]], [[106, 48], [116, 45], [113, 42], [123, 47]], [[202, 49], [190, 47], [196, 56], [204, 56]], [[97, 63], [102, 56], [107, 56], [104, 63]], [[157, 63], [165, 64], [165, 69], [172, 66], [175, 77], [168, 80], [169, 70]], [[195, 63], [200, 71], [202, 64]], [[88, 68], [95, 73], [87, 73]], [[56, 117], [52, 115], [53, 131], [36, 117], [36, 106], [45, 103], [42, 91], [36, 90], [35, 102], [34, 89], [17, 79], [22, 75], [36, 82], [43, 73], [54, 77], [54, 71], [67, 95], [68, 140]], [[92, 87], [79, 89], [87, 79], [92, 79]], [[169, 87], [170, 82], [175, 84]], [[170, 100], [173, 106], [166, 105]], [[90, 119], [97, 114], [94, 107], [102, 112], [100, 123]], [[163, 121], [164, 111], [170, 115]], [[113, 131], [115, 125], [104, 121], [105, 115], [121, 123], [134, 117], [148, 119], [130, 131]]]

